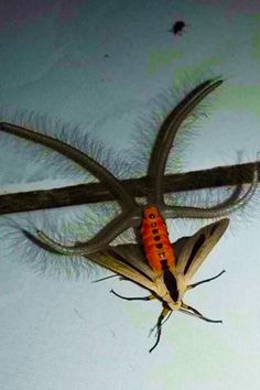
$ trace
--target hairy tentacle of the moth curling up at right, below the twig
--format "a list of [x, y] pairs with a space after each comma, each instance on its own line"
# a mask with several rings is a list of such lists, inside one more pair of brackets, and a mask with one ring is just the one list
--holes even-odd
[[[259, 153], [257, 153], [259, 156]], [[163, 216], [165, 218], [220, 218], [236, 212], [238, 208], [242, 208], [254, 195], [258, 187], [258, 159], [256, 160], [256, 165], [253, 170], [253, 176], [248, 191], [237, 199], [234, 199], [234, 194], [229, 199], [225, 201], [223, 204], [203, 208], [203, 207], [185, 207], [185, 206], [165, 206], [163, 210]], [[239, 192], [239, 189], [238, 189]], [[236, 193], [236, 189], [235, 189]]]

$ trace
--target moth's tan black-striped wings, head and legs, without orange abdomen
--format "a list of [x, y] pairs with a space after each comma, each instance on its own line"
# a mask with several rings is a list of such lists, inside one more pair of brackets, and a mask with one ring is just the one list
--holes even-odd
[[184, 303], [183, 297], [188, 290], [210, 282], [225, 272], [223, 270], [213, 278], [191, 284], [194, 274], [221, 238], [228, 224], [229, 219], [223, 218], [203, 227], [191, 237], [182, 237], [175, 241], [172, 245], [176, 252], [175, 264], [166, 268], [164, 272], [152, 270], [145, 260], [141, 245], [121, 245], [111, 247], [107, 251], [88, 256], [90, 260], [99, 266], [149, 291], [148, 296], [126, 297], [111, 290], [115, 295], [127, 301], [159, 300], [162, 303], [163, 310], [155, 325], [156, 342], [149, 350], [150, 353], [158, 346], [161, 338], [162, 324], [172, 312], [180, 311], [206, 322], [221, 323], [219, 319], [205, 317], [196, 308]]

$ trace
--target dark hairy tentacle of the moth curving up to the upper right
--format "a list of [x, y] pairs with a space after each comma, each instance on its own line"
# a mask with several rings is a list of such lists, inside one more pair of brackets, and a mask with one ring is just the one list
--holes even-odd
[[148, 166], [148, 176], [152, 181], [153, 192], [149, 197], [150, 204], [160, 205], [163, 208], [163, 176], [165, 166], [175, 136], [192, 110], [214, 89], [221, 85], [223, 80], [209, 79], [193, 89], [164, 119], [155, 143], [153, 145]]

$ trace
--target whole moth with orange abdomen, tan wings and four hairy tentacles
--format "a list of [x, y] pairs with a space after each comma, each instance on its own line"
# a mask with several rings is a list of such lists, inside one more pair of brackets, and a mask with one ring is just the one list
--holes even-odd
[[[12, 123], [0, 123], [0, 130], [40, 143], [55, 150], [87, 170], [104, 183], [118, 201], [121, 213], [102, 227], [87, 241], [55, 241], [42, 230], [29, 231], [21, 228], [28, 239], [50, 252], [65, 256], [82, 256], [85, 260], [101, 266], [117, 275], [129, 280], [149, 291], [141, 300], [156, 299], [163, 310], [158, 318], [156, 342], [161, 337], [163, 322], [173, 311], [193, 315], [208, 322], [219, 322], [203, 316], [197, 310], [183, 302], [186, 291], [209, 282], [218, 275], [191, 284], [192, 279], [207, 254], [218, 242], [228, 226], [223, 218], [239, 207], [243, 207], [254, 194], [258, 184], [257, 164], [249, 188], [242, 196], [231, 196], [214, 207], [193, 207], [169, 205], [164, 199], [163, 180], [170, 151], [174, 145], [177, 131], [196, 106], [217, 87], [220, 79], [209, 79], [194, 88], [163, 120], [156, 134], [148, 161], [147, 176], [149, 188], [143, 199], [137, 199], [118, 177], [98, 161], [62, 140], [54, 139], [33, 130]], [[166, 219], [172, 218], [221, 218], [202, 229], [192, 237], [183, 237], [172, 245], [166, 228]], [[112, 241], [120, 234], [132, 228], [137, 243], [117, 245]], [[62, 261], [62, 260], [61, 260]], [[140, 300], [140, 297], [123, 297]]]

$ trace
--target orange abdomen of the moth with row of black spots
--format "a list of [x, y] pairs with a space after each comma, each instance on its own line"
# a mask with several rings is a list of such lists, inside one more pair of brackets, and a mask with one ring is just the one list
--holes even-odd
[[143, 249], [153, 271], [175, 266], [175, 253], [169, 239], [166, 224], [154, 206], [144, 208], [141, 237]]

